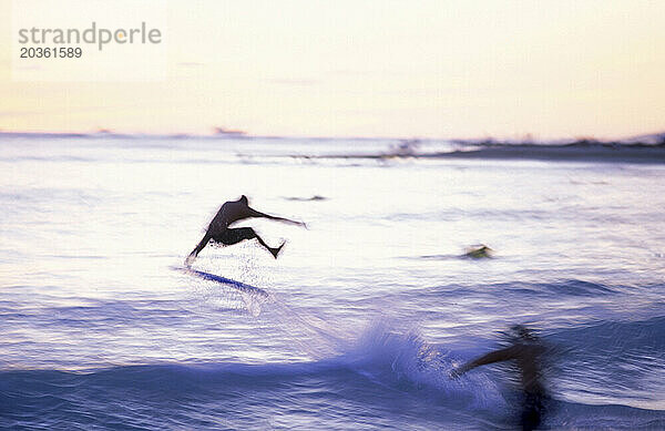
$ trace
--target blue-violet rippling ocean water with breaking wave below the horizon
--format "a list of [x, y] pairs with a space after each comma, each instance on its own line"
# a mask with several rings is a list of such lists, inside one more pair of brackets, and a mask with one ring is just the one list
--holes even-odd
[[[665, 429], [665, 164], [355, 157], [396, 145], [0, 137], [0, 428], [514, 429], [509, 368], [449, 372], [524, 324], [543, 428]], [[242, 194], [307, 229], [194, 268], [266, 296], [181, 270]]]

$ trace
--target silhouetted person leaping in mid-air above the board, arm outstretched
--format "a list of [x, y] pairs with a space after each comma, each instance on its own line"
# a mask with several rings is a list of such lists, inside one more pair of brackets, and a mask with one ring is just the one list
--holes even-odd
[[247, 196], [243, 195], [237, 201], [231, 201], [222, 205], [215, 218], [211, 222], [203, 239], [198, 243], [198, 245], [192, 250], [187, 259], [185, 260], [185, 265], [190, 266], [201, 253], [202, 249], [209, 243], [212, 239], [215, 243], [219, 243], [223, 245], [233, 245], [237, 244], [245, 239], [256, 238], [258, 244], [264, 246], [268, 252], [273, 254], [275, 258], [284, 247], [284, 243], [279, 247], [270, 247], [268, 246], [260, 236], [256, 234], [256, 232], [252, 227], [238, 227], [238, 228], [229, 228], [228, 226], [234, 223], [245, 218], [253, 217], [263, 217], [272, 220], [290, 223], [298, 226], [305, 226], [303, 222], [289, 220], [288, 218], [276, 217], [268, 214], [259, 213], [254, 208], [249, 207]]

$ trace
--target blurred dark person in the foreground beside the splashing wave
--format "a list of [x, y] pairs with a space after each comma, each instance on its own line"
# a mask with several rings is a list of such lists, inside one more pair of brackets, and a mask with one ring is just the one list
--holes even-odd
[[508, 347], [475, 358], [453, 369], [450, 376], [458, 378], [475, 367], [514, 361], [520, 372], [520, 386], [523, 394], [521, 425], [523, 430], [535, 430], [542, 423], [550, 403], [543, 376], [549, 349], [532, 330], [523, 325], [511, 327], [508, 338], [510, 342]]

